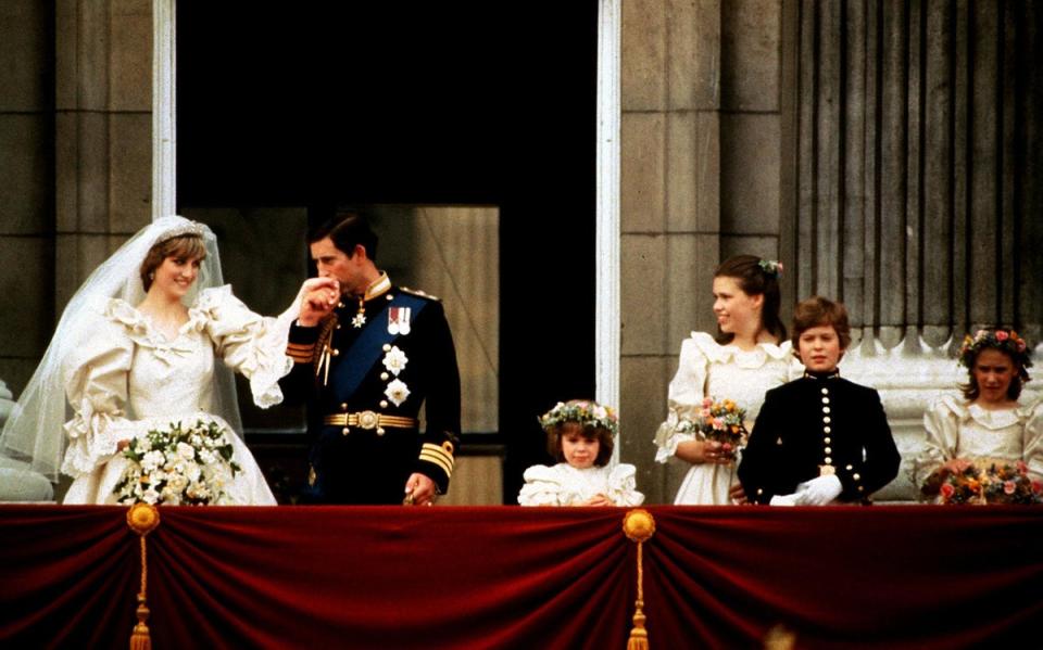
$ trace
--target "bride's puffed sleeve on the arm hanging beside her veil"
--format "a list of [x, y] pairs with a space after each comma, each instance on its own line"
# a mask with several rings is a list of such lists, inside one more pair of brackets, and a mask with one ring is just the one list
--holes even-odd
[[112, 458], [120, 441], [134, 437], [134, 423], [126, 418], [134, 343], [114, 322], [100, 321], [90, 330], [63, 364], [73, 419], [64, 426], [68, 447], [62, 472], [73, 477], [89, 474]]

